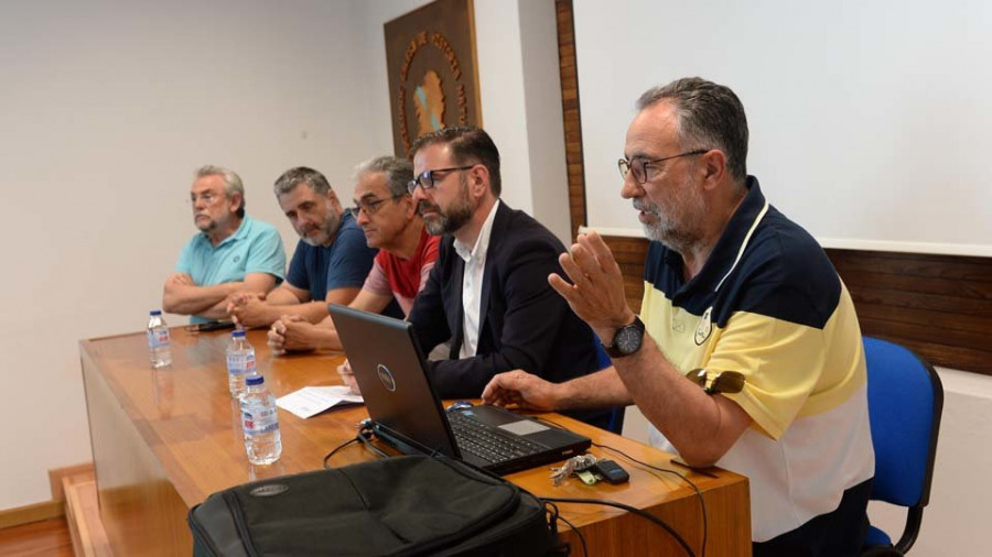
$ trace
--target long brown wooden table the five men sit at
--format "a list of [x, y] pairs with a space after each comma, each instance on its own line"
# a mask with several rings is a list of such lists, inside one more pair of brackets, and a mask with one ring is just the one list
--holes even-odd
[[[100, 515], [117, 555], [190, 555], [188, 510], [207, 495], [239, 483], [320, 469], [324, 456], [355, 436], [364, 406], [325, 412], [309, 419], [280, 411], [282, 458], [269, 467], [248, 462], [237, 404], [227, 392], [227, 332], [172, 329], [171, 367], [151, 370], [143, 332], [80, 342], [89, 432]], [[273, 356], [265, 331], [249, 331], [258, 369], [281, 396], [308, 385], [339, 384], [339, 353]], [[547, 417], [595, 443], [667, 470], [688, 474], [702, 491], [708, 516], [705, 555], [751, 555], [747, 479], [723, 470], [690, 472], [670, 455], [602, 429], [550, 414]], [[575, 479], [553, 487], [540, 468], [508, 477], [540, 496], [608, 499], [649, 511], [672, 526], [697, 554], [702, 548], [699, 498], [673, 474], [644, 469], [608, 450], [629, 473], [629, 483], [586, 487]], [[352, 445], [332, 460], [343, 466], [374, 458]], [[712, 473], [709, 473], [712, 472]], [[590, 555], [684, 555], [672, 537], [643, 517], [600, 505], [560, 505], [562, 516], [585, 536]], [[563, 536], [582, 555], [574, 532]]]

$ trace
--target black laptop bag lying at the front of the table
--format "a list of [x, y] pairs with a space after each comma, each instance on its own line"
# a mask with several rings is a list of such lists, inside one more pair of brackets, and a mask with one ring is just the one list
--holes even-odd
[[425, 456], [246, 483], [190, 512], [194, 556], [568, 554], [556, 522], [513, 483]]

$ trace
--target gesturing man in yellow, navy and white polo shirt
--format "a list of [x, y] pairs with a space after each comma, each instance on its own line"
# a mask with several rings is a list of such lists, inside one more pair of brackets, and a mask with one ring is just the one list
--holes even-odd
[[751, 479], [755, 556], [859, 555], [874, 454], [851, 297], [816, 240], [747, 175], [733, 91], [680, 79], [637, 108], [618, 165], [653, 240], [641, 317], [603, 240], [580, 236], [561, 261], [572, 282], [549, 280], [607, 339], [614, 365], [561, 384], [511, 371], [483, 398], [633, 402], [653, 445]]

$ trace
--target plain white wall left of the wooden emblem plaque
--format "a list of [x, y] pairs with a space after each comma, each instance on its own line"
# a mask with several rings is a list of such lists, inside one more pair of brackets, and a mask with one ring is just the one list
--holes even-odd
[[291, 254], [274, 178], [312, 165], [349, 198], [353, 165], [388, 151], [367, 131], [363, 18], [360, 1], [0, 6], [0, 510], [91, 460], [77, 341], [161, 304], [197, 166], [238, 172]]

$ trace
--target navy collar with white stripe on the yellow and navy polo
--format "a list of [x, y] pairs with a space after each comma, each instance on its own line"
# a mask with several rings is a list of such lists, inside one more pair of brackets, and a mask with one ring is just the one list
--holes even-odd
[[[744, 187], [747, 188], [747, 194], [744, 195], [741, 206], [731, 216], [702, 270], [687, 286], [692, 285], [693, 288], [701, 287], [715, 292], [736, 261], [748, 231], [757, 219], [764, 216], [765, 196], [762, 194], [757, 178], [747, 176]], [[681, 256], [678, 258], [681, 260]]]

